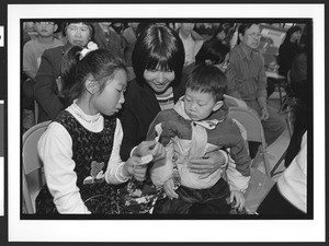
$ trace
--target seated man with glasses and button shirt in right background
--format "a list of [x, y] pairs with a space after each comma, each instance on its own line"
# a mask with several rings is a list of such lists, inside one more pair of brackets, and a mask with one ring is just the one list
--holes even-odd
[[239, 26], [238, 34], [238, 45], [229, 55], [226, 94], [243, 99], [258, 113], [270, 145], [284, 132], [286, 124], [266, 103], [264, 62], [258, 51], [261, 36], [259, 24], [243, 23]]

